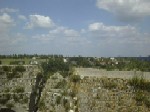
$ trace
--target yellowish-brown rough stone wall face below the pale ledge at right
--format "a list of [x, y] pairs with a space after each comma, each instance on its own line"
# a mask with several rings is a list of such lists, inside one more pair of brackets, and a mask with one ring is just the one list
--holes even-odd
[[79, 112], [150, 112], [127, 79], [86, 77], [78, 91]]

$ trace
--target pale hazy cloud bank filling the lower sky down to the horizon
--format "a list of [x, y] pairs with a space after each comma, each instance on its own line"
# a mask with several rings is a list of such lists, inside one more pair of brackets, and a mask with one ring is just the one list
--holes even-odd
[[[22, 26], [35, 30], [25, 30]], [[49, 16], [0, 13], [0, 53], [138, 56], [150, 52], [150, 33], [134, 26], [94, 22], [82, 29], [57, 25]], [[45, 28], [39, 29], [39, 28]], [[18, 33], [20, 32], [20, 33]]]

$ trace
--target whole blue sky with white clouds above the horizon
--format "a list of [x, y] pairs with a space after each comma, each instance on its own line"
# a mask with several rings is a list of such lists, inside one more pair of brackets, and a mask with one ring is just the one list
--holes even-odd
[[0, 0], [0, 54], [150, 55], [150, 0]]

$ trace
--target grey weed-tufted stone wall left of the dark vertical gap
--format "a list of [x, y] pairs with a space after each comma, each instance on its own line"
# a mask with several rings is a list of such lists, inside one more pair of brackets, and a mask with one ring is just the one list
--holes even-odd
[[[7, 65], [5, 65], [7, 66]], [[8, 65], [8, 71], [0, 66], [0, 109], [12, 108], [15, 112], [28, 112], [28, 105], [32, 88], [35, 85], [36, 75], [39, 72], [38, 66], [24, 65], [23, 73], [17, 72], [19, 78], [7, 78], [17, 65]]]

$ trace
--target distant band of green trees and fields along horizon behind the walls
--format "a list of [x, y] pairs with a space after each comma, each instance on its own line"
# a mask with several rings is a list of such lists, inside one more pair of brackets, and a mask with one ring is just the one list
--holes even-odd
[[[0, 55], [0, 61], [3, 64], [29, 64], [32, 58], [38, 61], [48, 63], [49, 71], [61, 71], [66, 76], [66, 69], [69, 66], [76, 67], [94, 67], [107, 70], [140, 70], [150, 71], [150, 57], [116, 57], [116, 58], [95, 58], [95, 57], [63, 57], [63, 55], [38, 55], [38, 54], [12, 54]], [[64, 64], [63, 58], [67, 59]], [[51, 64], [50, 64], [51, 63]], [[55, 66], [55, 67], [54, 67]], [[63, 67], [61, 67], [63, 66]], [[63, 70], [62, 70], [63, 69]], [[64, 70], [65, 69], [65, 70]]]

